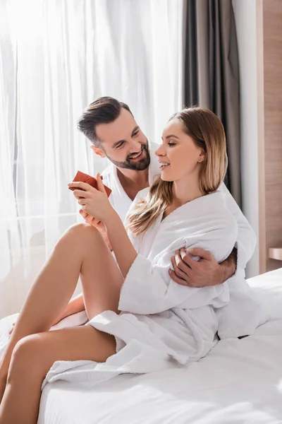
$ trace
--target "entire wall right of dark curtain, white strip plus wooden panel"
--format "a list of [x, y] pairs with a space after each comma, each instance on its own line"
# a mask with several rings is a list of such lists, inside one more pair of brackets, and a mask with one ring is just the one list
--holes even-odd
[[247, 275], [278, 269], [282, 257], [282, 1], [233, 0], [241, 84], [243, 212], [258, 245]]

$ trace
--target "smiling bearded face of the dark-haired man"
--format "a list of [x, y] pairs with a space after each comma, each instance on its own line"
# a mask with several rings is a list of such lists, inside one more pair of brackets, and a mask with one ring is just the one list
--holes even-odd
[[114, 122], [97, 125], [96, 134], [103, 150], [93, 150], [109, 158], [116, 167], [142, 171], [149, 166], [148, 140], [128, 110], [122, 108]]

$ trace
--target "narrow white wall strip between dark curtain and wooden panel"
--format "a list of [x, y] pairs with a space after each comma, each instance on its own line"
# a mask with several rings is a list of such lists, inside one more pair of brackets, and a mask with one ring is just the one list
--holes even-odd
[[247, 276], [259, 273], [257, 2], [233, 0], [240, 71], [241, 176], [243, 213], [258, 238]]

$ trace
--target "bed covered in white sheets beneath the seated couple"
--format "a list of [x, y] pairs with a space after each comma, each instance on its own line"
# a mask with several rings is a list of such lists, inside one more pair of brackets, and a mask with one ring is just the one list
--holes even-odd
[[47, 384], [38, 423], [281, 424], [282, 269], [248, 282], [271, 314], [255, 335], [220, 341], [185, 368], [121, 375], [92, 389]]

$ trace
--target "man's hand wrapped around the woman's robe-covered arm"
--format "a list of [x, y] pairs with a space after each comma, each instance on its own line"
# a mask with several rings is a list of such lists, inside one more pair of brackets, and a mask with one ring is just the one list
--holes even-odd
[[[200, 249], [180, 249], [171, 258], [173, 270], [169, 275], [176, 283], [188, 285], [189, 287], [206, 287], [210, 285], [222, 284], [233, 276], [236, 270], [236, 250], [233, 249], [231, 255], [219, 264], [211, 252]], [[192, 256], [200, 257], [199, 261], [192, 259]]]

